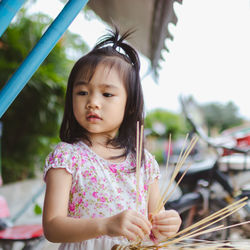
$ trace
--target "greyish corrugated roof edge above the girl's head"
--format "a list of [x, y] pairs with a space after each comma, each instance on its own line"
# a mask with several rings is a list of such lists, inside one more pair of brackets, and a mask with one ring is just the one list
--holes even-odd
[[173, 39], [168, 24], [177, 23], [174, 2], [182, 0], [90, 0], [88, 6], [106, 23], [115, 23], [121, 31], [136, 29], [129, 42], [151, 61], [158, 77], [165, 39]]

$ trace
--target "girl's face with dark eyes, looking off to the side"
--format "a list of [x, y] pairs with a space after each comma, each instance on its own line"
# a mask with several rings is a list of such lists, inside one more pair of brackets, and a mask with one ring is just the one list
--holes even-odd
[[127, 93], [123, 80], [113, 67], [97, 66], [90, 82], [80, 74], [73, 87], [73, 112], [91, 138], [113, 138], [123, 121]]

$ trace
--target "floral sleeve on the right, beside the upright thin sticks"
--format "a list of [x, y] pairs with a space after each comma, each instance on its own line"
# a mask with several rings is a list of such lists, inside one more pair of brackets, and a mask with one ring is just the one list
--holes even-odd
[[145, 174], [146, 174], [146, 183], [148, 185], [152, 184], [155, 179], [160, 179], [160, 167], [155, 160], [155, 157], [145, 150]]

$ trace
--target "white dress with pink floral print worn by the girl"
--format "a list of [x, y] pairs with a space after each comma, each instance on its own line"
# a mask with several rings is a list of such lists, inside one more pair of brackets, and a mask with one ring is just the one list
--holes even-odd
[[[129, 154], [121, 163], [98, 156], [85, 143], [60, 142], [46, 158], [44, 180], [50, 168], [64, 168], [72, 175], [68, 216], [73, 218], [109, 217], [126, 209], [136, 210], [136, 159]], [[140, 168], [138, 211], [147, 216], [147, 190], [160, 171], [154, 157], [145, 150]], [[123, 237], [101, 236], [77, 243], [62, 243], [59, 249], [107, 249], [127, 244]]]

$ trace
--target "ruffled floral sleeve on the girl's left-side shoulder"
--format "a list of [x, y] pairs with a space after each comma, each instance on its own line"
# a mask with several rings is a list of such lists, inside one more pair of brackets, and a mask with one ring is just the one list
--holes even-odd
[[58, 143], [45, 160], [43, 173], [44, 181], [48, 170], [51, 168], [63, 168], [73, 176], [76, 158], [72, 144], [65, 142]]

